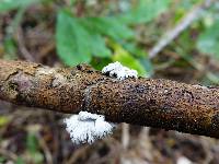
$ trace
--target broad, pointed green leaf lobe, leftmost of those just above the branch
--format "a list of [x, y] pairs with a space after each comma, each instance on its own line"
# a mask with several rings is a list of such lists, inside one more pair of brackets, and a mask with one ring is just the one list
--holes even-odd
[[56, 30], [58, 56], [66, 65], [91, 61], [91, 36], [77, 19], [60, 11]]

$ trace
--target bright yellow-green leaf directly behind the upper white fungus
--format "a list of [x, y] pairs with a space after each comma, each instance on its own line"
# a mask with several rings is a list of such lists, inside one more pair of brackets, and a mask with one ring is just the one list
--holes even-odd
[[139, 75], [146, 75], [146, 70], [139, 60], [134, 58], [128, 51], [126, 51], [120, 45], [112, 44], [114, 49], [113, 61], [119, 61], [122, 65], [135, 69], [138, 71]]

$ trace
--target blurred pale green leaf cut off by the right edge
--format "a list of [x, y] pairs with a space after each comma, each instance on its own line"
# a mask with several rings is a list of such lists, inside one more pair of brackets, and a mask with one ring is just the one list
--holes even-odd
[[219, 21], [207, 27], [198, 37], [197, 48], [219, 60]]

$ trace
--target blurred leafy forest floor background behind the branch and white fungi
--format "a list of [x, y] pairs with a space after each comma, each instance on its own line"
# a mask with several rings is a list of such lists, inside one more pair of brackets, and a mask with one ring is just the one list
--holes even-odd
[[[119, 61], [142, 77], [218, 84], [219, 2], [204, 2], [210, 1], [0, 0], [0, 58], [99, 70]], [[157, 43], [197, 8], [188, 27], [152, 57]], [[76, 147], [62, 117], [0, 102], [0, 163], [219, 163], [215, 139], [134, 126]]]

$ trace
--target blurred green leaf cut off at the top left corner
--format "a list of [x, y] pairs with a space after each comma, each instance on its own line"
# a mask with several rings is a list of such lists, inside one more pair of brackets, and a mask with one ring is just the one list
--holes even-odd
[[18, 8], [26, 8], [39, 0], [1, 0], [0, 12], [7, 12]]

